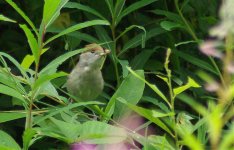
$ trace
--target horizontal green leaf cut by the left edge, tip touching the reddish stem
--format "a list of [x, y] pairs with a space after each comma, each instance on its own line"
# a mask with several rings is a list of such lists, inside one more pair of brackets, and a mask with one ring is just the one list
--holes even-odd
[[25, 113], [20, 113], [20, 112], [11, 112], [11, 113], [0, 113], [0, 123], [19, 119], [19, 118], [24, 118], [26, 116]]

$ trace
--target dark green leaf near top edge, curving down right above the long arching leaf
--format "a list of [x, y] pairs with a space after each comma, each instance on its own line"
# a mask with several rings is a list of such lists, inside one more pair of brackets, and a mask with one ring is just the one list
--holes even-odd
[[91, 13], [103, 20], [106, 20], [105, 17], [103, 17], [98, 11], [96, 11], [95, 9], [89, 7], [89, 6], [85, 6], [85, 5], [82, 5], [80, 3], [75, 3], [75, 2], [68, 2], [66, 5], [65, 5], [65, 8], [76, 8], [76, 9], [79, 9], [79, 10], [82, 10], [82, 11], [86, 11], [88, 13]]

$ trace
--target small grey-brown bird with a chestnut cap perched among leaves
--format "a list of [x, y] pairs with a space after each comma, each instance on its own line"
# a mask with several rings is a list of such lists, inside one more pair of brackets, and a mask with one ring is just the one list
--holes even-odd
[[90, 101], [97, 98], [104, 88], [101, 72], [106, 55], [110, 50], [102, 48], [96, 43], [86, 45], [79, 61], [68, 75], [67, 91], [78, 101]]

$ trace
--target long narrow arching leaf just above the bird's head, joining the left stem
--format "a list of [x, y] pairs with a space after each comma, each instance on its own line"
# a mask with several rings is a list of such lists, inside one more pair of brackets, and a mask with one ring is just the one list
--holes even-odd
[[86, 27], [90, 27], [90, 26], [94, 26], [94, 25], [109, 25], [109, 22], [106, 21], [106, 20], [92, 20], [92, 21], [86, 21], [86, 22], [83, 22], [83, 23], [80, 23], [80, 24], [77, 24], [77, 25], [74, 25], [74, 26], [71, 26], [65, 30], [63, 30], [62, 32], [60, 32], [59, 34], [49, 38], [46, 42], [45, 42], [45, 45], [48, 44], [49, 42], [59, 38], [60, 36], [63, 36], [63, 35], [66, 35], [68, 33], [71, 33], [71, 32], [74, 32], [74, 31], [77, 31], [77, 30], [80, 30], [80, 29], [83, 29], [83, 28], [86, 28]]

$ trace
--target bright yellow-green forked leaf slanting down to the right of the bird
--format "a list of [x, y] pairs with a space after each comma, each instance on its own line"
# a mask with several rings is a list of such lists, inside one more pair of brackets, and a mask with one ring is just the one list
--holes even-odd
[[156, 112], [156, 111], [152, 111], [152, 110], [149, 110], [149, 109], [145, 109], [145, 108], [142, 108], [142, 107], [135, 106], [135, 105], [133, 105], [131, 103], [128, 103], [122, 97], [119, 97], [117, 99], [120, 102], [122, 102], [123, 104], [127, 105], [128, 108], [132, 109], [133, 111], [135, 111], [139, 115], [145, 117], [146, 119], [152, 121], [157, 126], [161, 127], [163, 130], [167, 131], [167, 133], [169, 133], [170, 135], [174, 136], [172, 134], [172, 132], [170, 131], [170, 129], [160, 119], [158, 119], [158, 117], [173, 116], [174, 115], [173, 113], [163, 114], [161, 112], [159, 113], [159, 112]]

